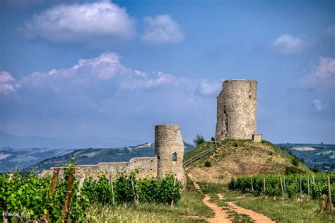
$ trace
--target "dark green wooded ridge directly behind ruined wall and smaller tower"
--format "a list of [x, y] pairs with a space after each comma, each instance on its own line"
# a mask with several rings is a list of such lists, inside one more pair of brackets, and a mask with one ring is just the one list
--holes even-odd
[[[185, 151], [193, 149], [192, 144], [184, 142]], [[76, 156], [75, 156], [76, 155]], [[141, 145], [135, 147], [124, 147], [124, 148], [100, 148], [100, 149], [78, 149], [76, 151], [71, 151], [69, 154], [63, 156], [54, 157], [50, 159], [45, 159], [30, 168], [26, 168], [25, 171], [30, 169], [35, 169], [37, 171], [42, 171], [44, 169], [49, 169], [53, 166], [64, 166], [68, 164], [71, 157], [75, 156], [75, 161], [78, 165], [92, 165], [98, 164], [100, 162], [122, 162], [129, 161], [133, 157], [146, 157], [154, 156], [155, 147], [151, 144], [151, 147], [141, 147]]]

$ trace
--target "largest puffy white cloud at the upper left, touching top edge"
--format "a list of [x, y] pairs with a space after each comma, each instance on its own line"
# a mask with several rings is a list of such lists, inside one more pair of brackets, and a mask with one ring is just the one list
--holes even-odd
[[109, 1], [62, 4], [36, 14], [25, 23], [23, 32], [31, 38], [91, 44], [99, 38], [109, 41], [132, 38], [134, 23], [124, 8]]

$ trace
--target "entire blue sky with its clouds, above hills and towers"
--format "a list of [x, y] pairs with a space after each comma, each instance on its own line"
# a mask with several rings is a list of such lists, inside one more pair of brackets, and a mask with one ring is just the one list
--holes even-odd
[[215, 133], [225, 79], [258, 82], [258, 132], [335, 143], [334, 1], [1, 1], [0, 130], [153, 142]]

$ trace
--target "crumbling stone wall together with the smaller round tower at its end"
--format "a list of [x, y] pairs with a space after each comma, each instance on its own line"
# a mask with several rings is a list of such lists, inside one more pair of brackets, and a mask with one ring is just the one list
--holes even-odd
[[[103, 174], [107, 177], [116, 176], [117, 173], [131, 173], [138, 171], [137, 177], [160, 178], [168, 173], [175, 173], [178, 180], [186, 183], [182, 159], [184, 155], [184, 142], [179, 125], [155, 126], [155, 156], [136, 157], [129, 162], [99, 163], [97, 165], [76, 166], [76, 177], [86, 178], [92, 176], [97, 179]], [[60, 171], [60, 176], [63, 171]], [[52, 175], [52, 168], [44, 170], [40, 176]]]

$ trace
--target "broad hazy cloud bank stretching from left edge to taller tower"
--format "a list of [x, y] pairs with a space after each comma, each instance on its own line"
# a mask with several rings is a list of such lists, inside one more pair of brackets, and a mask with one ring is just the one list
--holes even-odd
[[[158, 123], [189, 126], [200, 120], [204, 127], [214, 120], [201, 119], [204, 113], [216, 114], [215, 96], [204, 96], [211, 93], [211, 82], [129, 69], [120, 60], [107, 52], [69, 68], [33, 72], [13, 84], [11, 76], [1, 74], [4, 84], [10, 84], [3, 90], [13, 93], [0, 96], [0, 108], [6, 108], [0, 122], [51, 135], [141, 137]], [[196, 128], [192, 136], [193, 131]]]

